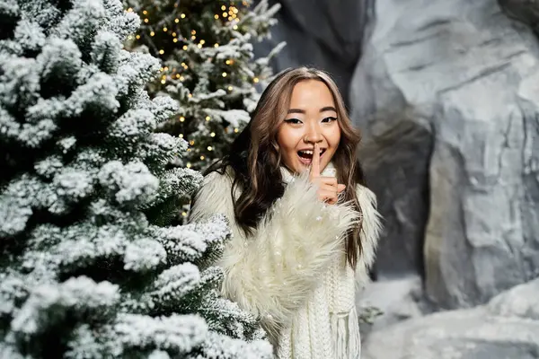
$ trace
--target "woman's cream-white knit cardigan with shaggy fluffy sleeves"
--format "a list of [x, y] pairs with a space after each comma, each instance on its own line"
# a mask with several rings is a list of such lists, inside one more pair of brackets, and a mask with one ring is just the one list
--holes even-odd
[[[334, 172], [330, 164], [322, 175]], [[368, 282], [375, 258], [380, 232], [376, 197], [358, 185], [360, 216], [348, 204], [319, 201], [306, 173], [294, 177], [283, 169], [282, 174], [285, 193], [252, 238], [235, 223], [229, 172], [206, 176], [190, 221], [218, 213], [229, 219], [233, 238], [218, 263], [225, 270], [222, 293], [260, 318], [278, 359], [358, 359], [355, 285]], [[343, 238], [360, 221], [362, 254], [354, 273]]]

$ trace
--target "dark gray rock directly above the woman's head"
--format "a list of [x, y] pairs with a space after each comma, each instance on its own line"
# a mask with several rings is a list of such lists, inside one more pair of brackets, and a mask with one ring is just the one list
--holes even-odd
[[271, 39], [255, 44], [255, 54], [266, 56], [287, 41], [272, 67], [315, 66], [329, 71], [348, 99], [349, 81], [361, 55], [367, 10], [374, 0], [270, 0], [278, 2], [278, 24]]

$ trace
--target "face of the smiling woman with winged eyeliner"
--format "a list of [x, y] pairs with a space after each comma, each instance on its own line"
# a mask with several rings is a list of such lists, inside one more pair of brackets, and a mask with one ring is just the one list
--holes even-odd
[[290, 171], [305, 171], [312, 162], [314, 144], [321, 151], [320, 170], [331, 162], [340, 142], [337, 109], [330, 89], [318, 80], [297, 83], [287, 117], [278, 128], [277, 142]]

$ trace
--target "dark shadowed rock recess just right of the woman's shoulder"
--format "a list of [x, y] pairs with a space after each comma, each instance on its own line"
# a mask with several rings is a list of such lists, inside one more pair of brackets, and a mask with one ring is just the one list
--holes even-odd
[[384, 239], [375, 264], [379, 280], [424, 272], [432, 144], [429, 129], [402, 118], [362, 148], [367, 185], [378, 196], [378, 210], [384, 216]]

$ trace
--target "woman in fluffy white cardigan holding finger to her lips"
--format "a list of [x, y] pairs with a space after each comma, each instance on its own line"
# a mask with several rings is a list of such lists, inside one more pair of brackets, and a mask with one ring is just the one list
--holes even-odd
[[193, 200], [191, 221], [230, 220], [222, 293], [260, 318], [278, 358], [360, 356], [355, 284], [380, 225], [359, 139], [328, 74], [288, 69]]

